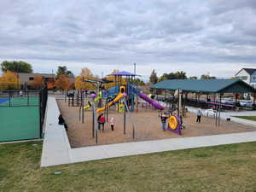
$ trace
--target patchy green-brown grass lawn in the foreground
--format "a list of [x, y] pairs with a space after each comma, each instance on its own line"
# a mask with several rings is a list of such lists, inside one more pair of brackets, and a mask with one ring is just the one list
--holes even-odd
[[256, 191], [256, 143], [46, 168], [41, 149], [41, 142], [0, 144], [0, 191]]

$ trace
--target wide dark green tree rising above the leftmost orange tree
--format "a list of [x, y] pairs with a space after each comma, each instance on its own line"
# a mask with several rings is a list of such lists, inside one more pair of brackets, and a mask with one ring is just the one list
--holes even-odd
[[24, 61], [3, 61], [1, 70], [3, 72], [32, 73], [32, 65]]

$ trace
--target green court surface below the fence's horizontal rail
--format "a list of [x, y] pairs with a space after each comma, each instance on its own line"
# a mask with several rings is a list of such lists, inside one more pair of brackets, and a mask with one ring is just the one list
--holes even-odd
[[0, 107], [0, 142], [40, 137], [39, 107]]

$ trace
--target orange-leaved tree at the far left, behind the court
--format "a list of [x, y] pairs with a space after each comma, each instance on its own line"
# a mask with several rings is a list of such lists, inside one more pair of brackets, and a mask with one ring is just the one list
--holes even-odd
[[15, 73], [7, 71], [0, 77], [0, 89], [1, 90], [16, 90], [20, 89], [20, 80]]

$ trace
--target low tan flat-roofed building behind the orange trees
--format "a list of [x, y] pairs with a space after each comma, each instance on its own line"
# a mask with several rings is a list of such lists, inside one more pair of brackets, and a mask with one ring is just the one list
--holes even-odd
[[36, 76], [42, 76], [45, 84], [55, 82], [55, 74], [50, 73], [17, 73], [18, 78], [20, 79], [20, 86], [23, 89], [26, 89], [29, 85], [29, 82], [34, 80]]

